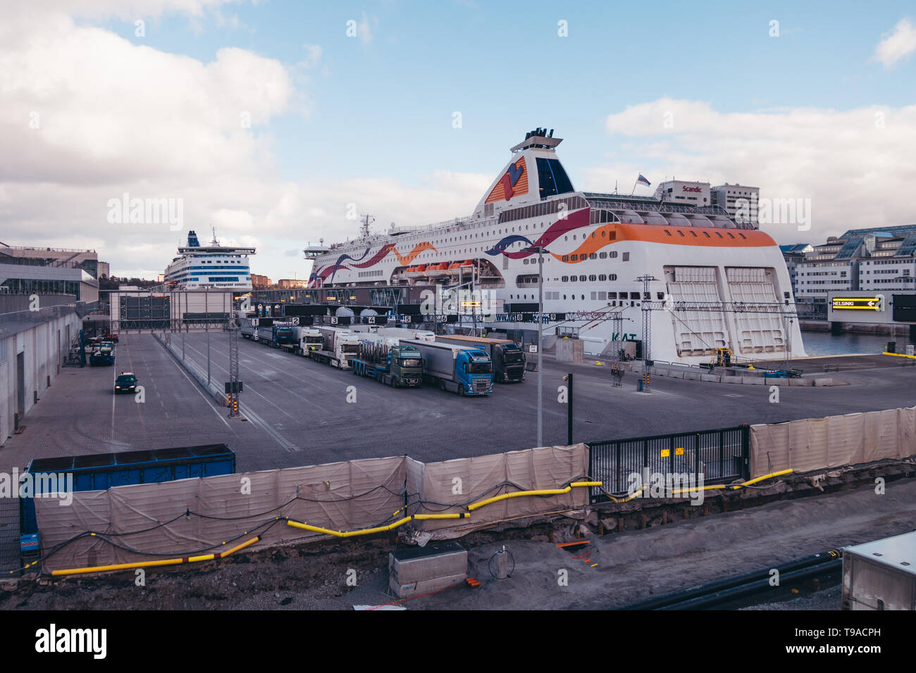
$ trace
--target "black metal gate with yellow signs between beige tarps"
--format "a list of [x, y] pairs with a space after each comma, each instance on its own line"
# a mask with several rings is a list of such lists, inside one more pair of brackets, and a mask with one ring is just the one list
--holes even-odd
[[[588, 442], [589, 475], [608, 493], [624, 494], [645, 475], [685, 475], [691, 484], [729, 483], [750, 476], [750, 429], [736, 428], [677, 432], [670, 435], [635, 437], [627, 440]], [[685, 484], [686, 485], [686, 484]], [[592, 502], [608, 498], [592, 488]]]

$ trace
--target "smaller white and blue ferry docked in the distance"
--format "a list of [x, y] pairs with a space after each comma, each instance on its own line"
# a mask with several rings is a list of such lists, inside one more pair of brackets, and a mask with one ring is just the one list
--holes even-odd
[[255, 248], [220, 245], [215, 232], [210, 245], [201, 245], [197, 234], [190, 231], [188, 244], [179, 247], [178, 252], [179, 256], [166, 267], [167, 288], [251, 290], [248, 255], [254, 255]]

